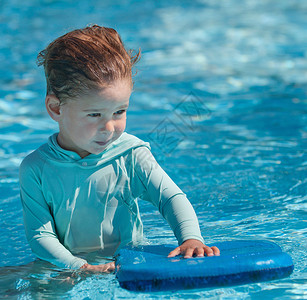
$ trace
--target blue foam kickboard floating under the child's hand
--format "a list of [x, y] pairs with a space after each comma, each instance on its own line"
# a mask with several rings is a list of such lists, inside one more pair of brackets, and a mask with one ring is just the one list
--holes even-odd
[[116, 277], [128, 290], [159, 291], [274, 280], [289, 276], [294, 268], [291, 257], [270, 241], [226, 241], [214, 246], [220, 256], [188, 259], [167, 257], [175, 245], [123, 248], [116, 257]]

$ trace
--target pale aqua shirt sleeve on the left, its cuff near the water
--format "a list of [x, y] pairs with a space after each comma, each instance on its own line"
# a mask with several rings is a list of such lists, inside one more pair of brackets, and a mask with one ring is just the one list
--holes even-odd
[[74, 256], [60, 243], [49, 206], [43, 196], [41, 176], [26, 158], [20, 166], [20, 196], [27, 240], [40, 259], [69, 269], [79, 269], [86, 260]]

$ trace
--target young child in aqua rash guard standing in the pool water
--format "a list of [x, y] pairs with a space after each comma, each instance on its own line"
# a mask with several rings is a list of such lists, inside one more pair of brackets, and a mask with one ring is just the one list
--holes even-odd
[[[33, 252], [59, 267], [109, 272], [78, 254], [112, 256], [142, 240], [137, 198], [155, 205], [179, 247], [169, 257], [219, 255], [203, 244], [185, 194], [158, 165], [148, 143], [124, 132], [133, 64], [118, 33], [93, 25], [59, 37], [38, 55], [46, 108], [59, 133], [20, 166], [26, 236]], [[79, 255], [80, 256], [80, 255]]]

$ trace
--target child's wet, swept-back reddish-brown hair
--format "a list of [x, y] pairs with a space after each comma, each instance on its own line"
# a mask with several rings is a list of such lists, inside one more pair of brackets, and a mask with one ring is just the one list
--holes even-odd
[[61, 102], [104, 88], [118, 79], [132, 82], [132, 66], [140, 51], [132, 55], [112, 28], [92, 25], [57, 38], [37, 56], [43, 65], [47, 95], [54, 94]]

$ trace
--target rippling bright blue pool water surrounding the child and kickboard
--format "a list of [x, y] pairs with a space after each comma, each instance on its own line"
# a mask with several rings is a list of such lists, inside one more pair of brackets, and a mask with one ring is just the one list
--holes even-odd
[[[307, 299], [306, 1], [11, 0], [0, 12], [0, 298]], [[293, 258], [290, 278], [145, 294], [121, 289], [113, 274], [33, 263], [18, 167], [57, 130], [35, 59], [92, 23], [142, 49], [127, 131], [151, 143], [206, 242], [274, 241]], [[159, 213], [140, 205], [147, 240], [176, 244]]]

